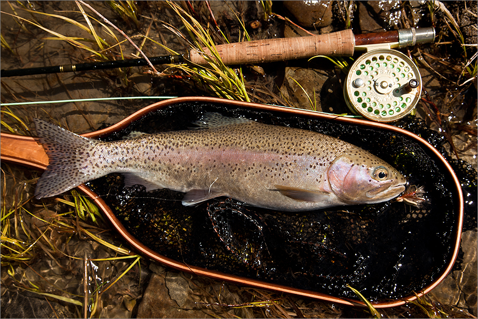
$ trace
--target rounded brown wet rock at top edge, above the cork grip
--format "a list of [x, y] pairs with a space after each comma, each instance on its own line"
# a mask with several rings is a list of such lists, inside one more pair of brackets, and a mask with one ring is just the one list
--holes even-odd
[[322, 28], [332, 23], [332, 1], [283, 1], [284, 6], [306, 28]]

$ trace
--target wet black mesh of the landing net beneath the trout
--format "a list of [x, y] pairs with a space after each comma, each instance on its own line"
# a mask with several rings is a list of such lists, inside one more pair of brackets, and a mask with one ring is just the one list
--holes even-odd
[[[346, 287], [350, 285], [372, 301], [413, 295], [447, 267], [458, 218], [457, 199], [449, 188], [452, 180], [433, 153], [406, 136], [196, 102], [150, 113], [105, 140], [118, 140], [133, 131], [188, 129], [205, 112], [244, 116], [345, 140], [393, 164], [410, 184], [424, 187], [427, 200], [420, 206], [386, 202], [294, 213], [251, 207], [227, 198], [185, 207], [182, 193], [168, 189], [146, 192], [141, 185], [124, 187], [120, 174], [88, 183], [145, 246], [187, 265], [356, 299]], [[425, 130], [413, 117], [399, 125]], [[426, 134], [440, 149], [443, 141], [429, 131]], [[422, 136], [426, 136], [424, 132]], [[470, 183], [475, 183], [476, 198], [476, 172], [464, 162], [457, 161], [455, 166], [462, 167], [463, 178], [468, 176]], [[476, 215], [476, 203], [467, 209], [475, 209]], [[470, 223], [476, 227], [476, 218]]]

